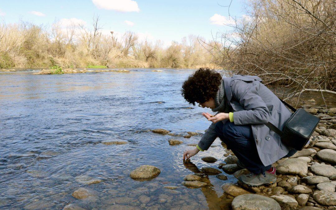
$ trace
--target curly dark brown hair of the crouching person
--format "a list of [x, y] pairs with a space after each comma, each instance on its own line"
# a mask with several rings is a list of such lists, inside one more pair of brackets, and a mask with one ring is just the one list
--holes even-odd
[[219, 73], [209, 68], [200, 68], [189, 76], [182, 85], [182, 96], [189, 104], [196, 101], [204, 103], [210, 98], [215, 98], [222, 77]]

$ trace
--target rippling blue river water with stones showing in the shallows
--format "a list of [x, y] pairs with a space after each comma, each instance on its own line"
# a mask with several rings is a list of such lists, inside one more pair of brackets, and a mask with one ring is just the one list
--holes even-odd
[[[85, 209], [227, 209], [221, 185], [236, 182], [209, 176], [203, 188], [181, 182], [197, 168], [217, 167], [224, 148], [200, 152], [183, 164], [182, 154], [200, 136], [173, 137], [150, 132], [203, 133], [209, 122], [205, 110], [185, 102], [183, 81], [193, 70], [128, 69], [102, 72], [33, 75], [33, 71], [0, 73], [0, 208], [62, 209], [75, 204]], [[211, 110], [206, 110], [211, 113]], [[127, 141], [104, 145], [102, 140]], [[216, 163], [205, 163], [212, 156]], [[154, 165], [161, 173], [137, 181], [129, 173], [140, 165]], [[223, 174], [225, 174], [223, 172]], [[102, 180], [85, 184], [79, 177]], [[167, 189], [165, 186], [177, 186]], [[95, 197], [78, 200], [79, 187]]]

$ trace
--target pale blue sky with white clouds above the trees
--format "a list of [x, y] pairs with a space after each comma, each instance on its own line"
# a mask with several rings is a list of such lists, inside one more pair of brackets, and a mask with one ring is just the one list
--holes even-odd
[[[232, 1], [230, 15], [244, 15], [242, 2]], [[172, 40], [180, 42], [189, 34], [209, 40], [211, 31], [230, 30], [223, 25], [230, 21], [228, 8], [220, 6], [229, 3], [229, 0], [1, 0], [0, 15], [7, 24], [17, 23], [21, 18], [50, 26], [63, 19], [89, 27], [93, 14], [97, 14], [106, 31], [131, 30], [168, 45]]]

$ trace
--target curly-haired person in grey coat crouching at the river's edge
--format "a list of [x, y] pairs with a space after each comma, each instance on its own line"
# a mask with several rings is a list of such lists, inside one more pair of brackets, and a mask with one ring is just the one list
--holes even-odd
[[275, 183], [276, 169], [271, 164], [296, 150], [284, 145], [265, 124], [271, 122], [282, 129], [291, 112], [261, 81], [257, 76], [222, 78], [209, 68], [190, 76], [182, 85], [182, 96], [217, 114], [202, 114], [212, 123], [197, 147], [183, 153], [183, 159], [208, 150], [219, 137], [237, 156], [237, 165], [251, 172], [241, 175], [240, 181], [251, 186]]

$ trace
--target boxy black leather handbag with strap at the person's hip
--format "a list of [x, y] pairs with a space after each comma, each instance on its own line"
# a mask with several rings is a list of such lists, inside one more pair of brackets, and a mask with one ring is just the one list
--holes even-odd
[[294, 112], [285, 123], [283, 131], [270, 122], [266, 126], [279, 134], [284, 144], [295, 150], [302, 150], [319, 124], [320, 119], [306, 112], [304, 109], [296, 110], [285, 101], [281, 100], [281, 102]]

